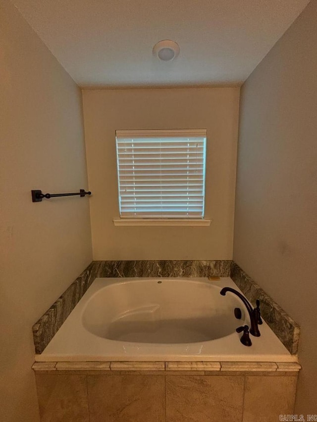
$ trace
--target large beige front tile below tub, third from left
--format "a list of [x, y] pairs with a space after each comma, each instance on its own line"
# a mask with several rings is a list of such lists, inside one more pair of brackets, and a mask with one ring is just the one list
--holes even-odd
[[166, 375], [166, 422], [241, 421], [243, 376]]

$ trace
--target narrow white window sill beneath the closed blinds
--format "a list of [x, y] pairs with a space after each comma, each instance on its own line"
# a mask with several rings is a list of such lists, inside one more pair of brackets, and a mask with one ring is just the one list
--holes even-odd
[[201, 218], [118, 218], [114, 226], [210, 226], [211, 220]]

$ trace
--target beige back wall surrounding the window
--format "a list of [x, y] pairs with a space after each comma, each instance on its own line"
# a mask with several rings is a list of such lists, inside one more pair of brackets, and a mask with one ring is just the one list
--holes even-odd
[[[231, 259], [239, 88], [84, 90], [95, 260]], [[210, 227], [114, 227], [116, 129], [207, 129]]]

